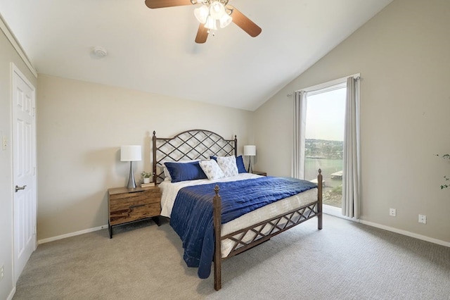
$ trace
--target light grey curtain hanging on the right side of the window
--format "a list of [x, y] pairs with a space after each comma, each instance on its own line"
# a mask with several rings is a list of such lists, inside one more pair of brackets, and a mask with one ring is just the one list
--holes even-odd
[[359, 78], [347, 78], [344, 159], [342, 169], [342, 215], [359, 218]]

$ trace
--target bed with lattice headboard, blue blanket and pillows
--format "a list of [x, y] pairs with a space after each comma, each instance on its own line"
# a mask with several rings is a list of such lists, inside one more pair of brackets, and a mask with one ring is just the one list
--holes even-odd
[[209, 277], [214, 265], [216, 290], [224, 259], [311, 218], [317, 217], [322, 229], [321, 170], [316, 183], [247, 173], [237, 149], [236, 136], [224, 139], [209, 130], [169, 138], [153, 132], [161, 215], [181, 237], [184, 261], [198, 268], [200, 278]]

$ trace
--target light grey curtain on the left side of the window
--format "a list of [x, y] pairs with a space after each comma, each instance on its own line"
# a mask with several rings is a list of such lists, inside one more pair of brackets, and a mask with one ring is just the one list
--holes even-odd
[[294, 149], [292, 177], [304, 179], [304, 135], [307, 99], [304, 91], [294, 92]]

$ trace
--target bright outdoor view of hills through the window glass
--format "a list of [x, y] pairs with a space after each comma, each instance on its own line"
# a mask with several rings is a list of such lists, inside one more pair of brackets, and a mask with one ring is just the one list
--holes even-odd
[[323, 204], [342, 206], [345, 94], [347, 89], [307, 94], [304, 179], [313, 180], [321, 168]]

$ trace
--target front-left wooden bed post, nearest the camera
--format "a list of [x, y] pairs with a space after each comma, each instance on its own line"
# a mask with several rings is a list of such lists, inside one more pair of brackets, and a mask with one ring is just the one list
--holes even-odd
[[214, 289], [218, 291], [222, 287], [221, 283], [221, 197], [219, 195], [219, 185], [214, 187], [214, 198], [212, 200], [214, 211]]

